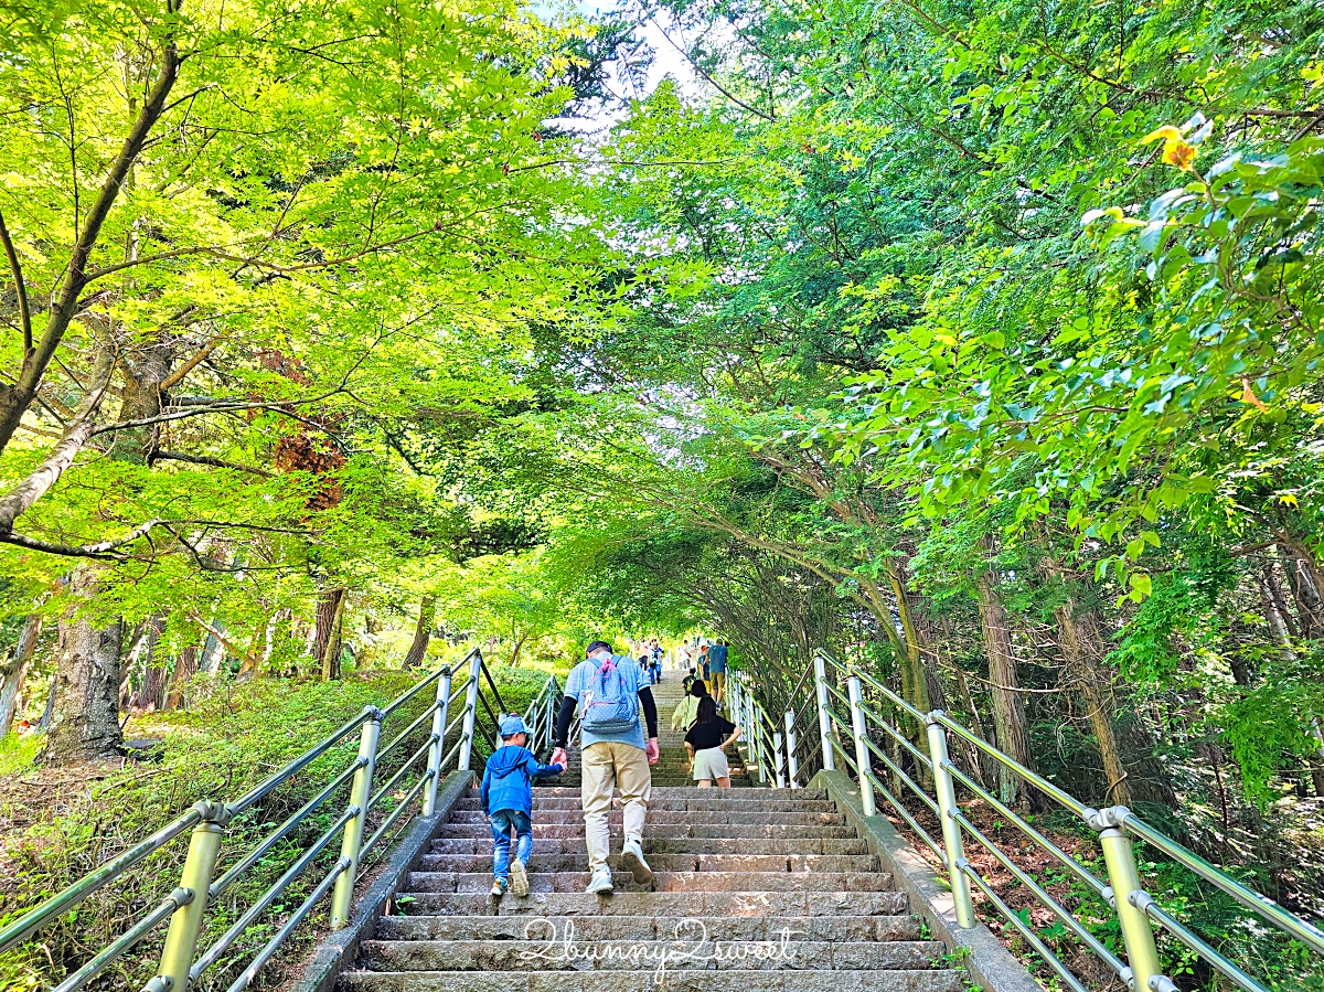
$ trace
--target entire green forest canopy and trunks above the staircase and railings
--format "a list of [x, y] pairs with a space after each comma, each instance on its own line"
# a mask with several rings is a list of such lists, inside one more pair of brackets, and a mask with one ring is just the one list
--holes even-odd
[[702, 625], [1324, 909], [1317, 5], [0, 17], [7, 769]]

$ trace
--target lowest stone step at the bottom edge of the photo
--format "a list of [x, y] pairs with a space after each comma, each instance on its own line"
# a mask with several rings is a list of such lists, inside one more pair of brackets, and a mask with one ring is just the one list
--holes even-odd
[[[655, 992], [657, 968], [639, 971], [346, 972], [344, 992]], [[961, 972], [715, 971], [667, 968], [667, 992], [959, 992]]]

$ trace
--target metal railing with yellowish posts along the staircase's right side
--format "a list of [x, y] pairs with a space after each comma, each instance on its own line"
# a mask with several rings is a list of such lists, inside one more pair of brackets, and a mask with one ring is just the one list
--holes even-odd
[[[1164, 836], [1125, 807], [1095, 809], [1079, 801], [1002, 754], [941, 710], [923, 713], [869, 673], [842, 665], [824, 652], [814, 654], [813, 665], [805, 674], [810, 673], [813, 697], [792, 710], [789, 707], [796, 706], [793, 693], [780, 720], [772, 719], [759, 702], [757, 686], [751, 673], [733, 671], [730, 677], [731, 713], [737, 714], [749, 727], [747, 738], [749, 762], [757, 766], [760, 781], [767, 784], [769, 780], [776, 780], [779, 785], [785, 783], [790, 788], [801, 788], [818, 769], [841, 768], [859, 784], [861, 807], [866, 817], [878, 815], [880, 795], [891, 811], [933, 852], [945, 870], [957, 924], [965, 928], [974, 926], [973, 890], [978, 890], [997, 915], [1002, 917], [1053, 971], [1062, 987], [1071, 992], [1087, 992], [1087, 987], [1053, 952], [1034, 927], [1008, 906], [973, 868], [965, 857], [967, 844], [988, 852], [1035, 902], [1057, 918], [1063, 931], [1071, 934], [1086, 951], [1103, 962], [1108, 971], [1135, 992], [1178, 992], [1172, 979], [1162, 973], [1156, 927], [1202, 960], [1211, 972], [1227, 983], [1229, 988], [1234, 987], [1242, 992], [1270, 992], [1270, 989], [1213, 947], [1194, 928], [1164, 910], [1158, 899], [1144, 890], [1132, 849], [1133, 840], [1141, 840], [1165, 857], [1184, 865], [1204, 882], [1254, 913], [1259, 922], [1271, 930], [1299, 942], [1315, 955], [1324, 954], [1324, 931], [1319, 927], [1288, 913], [1268, 897], [1246, 887], [1226, 871]], [[802, 677], [800, 685], [804, 683]], [[1025, 816], [1012, 808], [1012, 803], [986, 789], [980, 781], [977, 768], [965, 771], [957, 767], [948, 750], [949, 735], [957, 738], [972, 756], [986, 756], [1062, 809], [1083, 820], [1098, 838], [1107, 881], [1096, 877], [1087, 865], [1045, 837]], [[963, 809], [957, 787], [1014, 825], [1030, 844], [1066, 869], [1071, 878], [1082, 882], [1099, 903], [1111, 909], [1121, 931], [1120, 950], [1124, 956], [1110, 950], [1075, 914], [1054, 898], [1045, 885], [978, 828], [968, 811]], [[916, 812], [919, 809], [923, 812]], [[920, 818], [927, 818], [929, 822], [936, 820], [939, 836], [935, 837], [935, 832], [924, 829]]]

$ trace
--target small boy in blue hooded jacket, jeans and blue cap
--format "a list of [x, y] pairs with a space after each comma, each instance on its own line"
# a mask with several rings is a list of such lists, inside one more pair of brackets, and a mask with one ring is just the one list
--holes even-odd
[[[515, 714], [502, 718], [500, 747], [483, 771], [483, 813], [493, 828], [493, 895], [528, 895], [528, 856], [534, 850], [534, 779], [560, 775], [560, 764], [539, 764], [524, 747], [528, 727]], [[510, 860], [510, 832], [515, 830], [515, 861]]]

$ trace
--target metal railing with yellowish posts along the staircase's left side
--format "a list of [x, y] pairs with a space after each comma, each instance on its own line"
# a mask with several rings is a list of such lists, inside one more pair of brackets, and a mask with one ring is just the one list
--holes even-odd
[[[458, 686], [454, 685], [457, 673], [463, 673], [463, 679]], [[429, 689], [434, 689], [432, 703], [383, 744], [383, 724], [393, 715], [401, 714], [410, 701]], [[559, 701], [560, 685], [555, 677], [549, 677], [524, 714], [524, 719], [532, 730], [530, 735], [532, 750], [551, 746], [555, 707]], [[459, 711], [451, 717], [457, 703]], [[229, 984], [228, 992], [242, 992], [328, 893], [331, 893], [331, 927], [338, 928], [348, 923], [354, 905], [354, 886], [360, 877], [359, 868], [363, 860], [387, 838], [393, 828], [402, 828], [416, 813], [432, 816], [437, 812], [437, 787], [442, 775], [448, 768], [470, 771], [475, 739], [482, 739], [489, 748], [495, 748], [496, 722], [504, 713], [506, 707], [500, 693], [483, 664], [482, 654], [478, 650], [470, 652], [459, 662], [457, 671], [449, 666], [437, 669], [387, 706], [364, 707], [354, 719], [245, 795], [230, 803], [212, 800], [196, 803], [188, 812], [151, 837], [28, 910], [0, 928], [0, 954], [25, 943], [83, 899], [113, 885], [146, 858], [163, 850], [184, 833], [189, 833], [179, 886], [115, 940], [66, 976], [54, 987], [53, 992], [77, 992], [77, 989], [83, 988], [167, 922], [168, 928], [160, 966], [143, 988], [146, 992], [187, 992], [216, 966], [234, 967], [234, 960], [226, 960], [226, 952], [253, 927], [271, 926], [271, 917], [283, 917], [270, 939]], [[420, 732], [425, 724], [429, 724], [428, 734], [418, 743]], [[448, 750], [446, 740], [451, 738], [457, 727], [459, 727], [459, 735]], [[350, 739], [355, 732], [359, 734], [359, 750], [355, 759], [336, 772], [312, 799], [271, 830], [256, 848], [240, 856], [217, 878], [216, 870], [221, 861], [228, 828], [246, 812], [260, 808], [265, 797], [307, 769], [318, 758]], [[410, 746], [414, 750], [400, 759], [399, 755], [405, 754]], [[373, 789], [375, 772], [392, 764], [396, 766], [395, 771]], [[418, 771], [420, 766], [421, 771]], [[347, 793], [344, 792], [346, 787], [348, 787]], [[340, 799], [338, 799], [338, 793], [340, 793]], [[343, 805], [331, 825], [293, 860], [285, 873], [258, 895], [224, 934], [216, 936], [211, 946], [199, 954], [199, 940], [204, 931], [208, 907], [213, 906], [221, 894], [254, 865], [271, 854], [301, 825], [308, 822], [314, 813], [336, 801], [342, 801]], [[393, 805], [387, 809], [392, 801]], [[383, 811], [385, 811], [384, 815], [381, 815]], [[379, 813], [380, 822], [372, 817], [375, 812]], [[369, 821], [375, 822], [376, 829], [364, 840]], [[330, 870], [326, 870], [312, 885], [311, 891], [302, 902], [293, 911], [286, 911], [281, 906], [273, 910], [273, 905], [278, 901], [283, 903], [281, 897], [297, 879], [310, 871], [323, 870], [315, 868], [318, 856], [330, 849], [336, 838], [340, 842], [339, 857]], [[236, 852], [225, 852], [225, 854], [233, 857]]]

